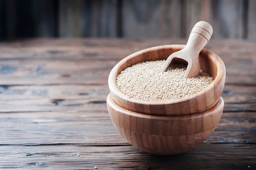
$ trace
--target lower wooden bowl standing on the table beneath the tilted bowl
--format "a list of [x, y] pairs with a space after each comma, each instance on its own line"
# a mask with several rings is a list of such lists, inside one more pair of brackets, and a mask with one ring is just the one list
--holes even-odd
[[171, 155], [187, 152], [206, 140], [216, 128], [224, 101], [202, 113], [155, 116], [126, 110], [107, 97], [108, 113], [115, 128], [131, 145], [144, 152]]

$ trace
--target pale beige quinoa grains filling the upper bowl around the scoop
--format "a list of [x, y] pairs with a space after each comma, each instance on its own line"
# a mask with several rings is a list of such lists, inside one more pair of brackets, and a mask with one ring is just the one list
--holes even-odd
[[146, 61], [127, 67], [117, 76], [117, 87], [129, 97], [145, 101], [170, 101], [200, 92], [213, 83], [213, 78], [200, 71], [200, 76], [184, 78], [186, 65], [170, 65], [160, 73], [165, 60]]

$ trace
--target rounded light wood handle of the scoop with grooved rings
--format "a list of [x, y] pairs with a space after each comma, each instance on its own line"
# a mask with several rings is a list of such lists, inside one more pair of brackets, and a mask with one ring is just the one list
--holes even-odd
[[193, 27], [186, 47], [184, 49], [191, 51], [191, 57], [198, 57], [200, 51], [207, 44], [211, 35], [213, 33], [213, 28], [208, 22], [199, 21]]

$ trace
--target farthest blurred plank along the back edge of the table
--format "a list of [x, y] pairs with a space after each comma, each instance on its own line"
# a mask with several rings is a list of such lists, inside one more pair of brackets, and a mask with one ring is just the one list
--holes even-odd
[[[220, 43], [220, 41], [222, 43]], [[240, 48], [243, 43], [243, 48]], [[141, 49], [166, 44], [186, 44], [186, 39], [160, 38], [160, 39], [30, 39], [0, 43], [1, 59], [8, 58], [124, 58]], [[122, 45], [122, 47], [120, 46]], [[215, 40], [211, 39], [205, 46], [218, 54], [222, 60], [230, 61], [231, 58], [240, 60], [252, 59], [250, 54], [255, 53], [256, 43], [243, 40]], [[117, 50], [117, 51], [116, 51]], [[123, 51], [123, 53], [121, 53]], [[96, 53], [96, 54], [95, 54]], [[108, 54], [109, 53], [109, 54]], [[121, 56], [120, 56], [121, 54]], [[245, 56], [245, 57], [243, 57]]]

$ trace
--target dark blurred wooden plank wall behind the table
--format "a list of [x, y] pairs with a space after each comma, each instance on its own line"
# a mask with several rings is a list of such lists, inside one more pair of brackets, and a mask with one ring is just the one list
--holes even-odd
[[256, 0], [0, 0], [0, 39], [187, 38], [199, 20], [213, 38], [256, 41]]

